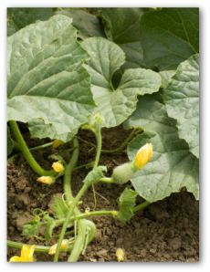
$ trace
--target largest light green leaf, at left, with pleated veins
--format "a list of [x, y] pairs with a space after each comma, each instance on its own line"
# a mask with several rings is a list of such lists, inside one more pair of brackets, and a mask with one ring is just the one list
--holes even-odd
[[34, 137], [68, 141], [94, 108], [71, 22], [52, 16], [8, 38], [8, 120], [30, 122]]

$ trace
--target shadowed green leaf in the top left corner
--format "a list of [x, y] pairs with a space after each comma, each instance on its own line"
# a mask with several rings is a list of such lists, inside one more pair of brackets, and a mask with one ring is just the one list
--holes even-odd
[[47, 20], [50, 16], [53, 16], [53, 9], [49, 7], [9, 7], [7, 8], [8, 36], [37, 20]]

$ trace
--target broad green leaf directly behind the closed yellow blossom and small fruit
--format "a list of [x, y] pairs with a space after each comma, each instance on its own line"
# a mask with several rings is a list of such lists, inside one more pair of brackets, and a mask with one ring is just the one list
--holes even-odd
[[185, 187], [197, 199], [198, 160], [189, 152], [187, 143], [179, 139], [175, 120], [167, 116], [159, 94], [142, 97], [125, 125], [145, 131], [128, 146], [131, 160], [146, 142], [152, 142], [153, 147], [152, 161], [131, 178], [138, 194], [155, 202]]

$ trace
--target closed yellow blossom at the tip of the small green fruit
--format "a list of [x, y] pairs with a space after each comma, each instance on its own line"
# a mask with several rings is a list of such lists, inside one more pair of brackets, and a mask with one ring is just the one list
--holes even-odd
[[152, 143], [146, 143], [137, 152], [133, 163], [135, 168], [137, 170], [140, 170], [151, 159], [152, 159]]

